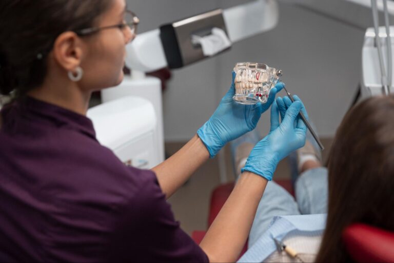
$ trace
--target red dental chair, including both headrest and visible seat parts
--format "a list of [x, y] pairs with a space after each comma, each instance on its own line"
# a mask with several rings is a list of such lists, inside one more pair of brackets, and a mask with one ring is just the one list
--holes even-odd
[[[294, 196], [291, 180], [275, 180]], [[216, 187], [211, 194], [208, 228], [230, 195], [234, 183]], [[193, 231], [192, 238], [197, 243], [203, 240], [206, 231]], [[345, 229], [342, 238], [350, 256], [356, 262], [394, 262], [394, 232], [365, 224], [353, 224]], [[247, 250], [247, 243], [242, 256]]]

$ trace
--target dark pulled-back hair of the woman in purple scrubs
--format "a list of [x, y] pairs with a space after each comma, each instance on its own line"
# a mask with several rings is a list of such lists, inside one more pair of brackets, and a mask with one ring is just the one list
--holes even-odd
[[1, 0], [0, 93], [40, 86], [61, 33], [92, 27], [111, 0]]

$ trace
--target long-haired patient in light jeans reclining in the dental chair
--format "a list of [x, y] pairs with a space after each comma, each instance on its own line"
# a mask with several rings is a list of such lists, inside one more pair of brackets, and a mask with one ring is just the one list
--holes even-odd
[[[294, 185], [296, 200], [273, 181], [268, 184], [250, 231], [249, 248], [268, 234], [274, 216], [302, 214], [308, 219], [310, 214], [326, 213], [327, 204], [325, 231], [322, 229], [315, 236], [297, 236], [295, 243], [292, 237], [301, 258], [291, 259], [285, 253], [274, 252], [264, 261], [352, 261], [341, 239], [347, 226], [362, 222], [394, 231], [393, 120], [394, 96], [369, 98], [353, 107], [334, 138], [329, 172], [321, 167], [320, 152], [312, 147], [310, 137], [306, 146], [297, 151], [300, 174]], [[240, 163], [239, 153], [247, 152], [245, 148], [253, 141], [252, 135], [248, 136], [243, 138], [243, 144], [238, 141], [235, 157]]]

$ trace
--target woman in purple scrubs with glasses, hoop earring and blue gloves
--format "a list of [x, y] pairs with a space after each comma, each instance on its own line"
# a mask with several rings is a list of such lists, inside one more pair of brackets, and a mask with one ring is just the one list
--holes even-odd
[[[85, 115], [93, 91], [122, 82], [138, 23], [126, 12], [125, 0], [0, 2], [0, 92], [13, 97], [0, 114], [0, 261], [234, 261], [277, 163], [304, 144], [305, 109], [274, 102], [282, 86], [243, 106], [232, 84], [178, 153], [152, 170], [125, 166]], [[271, 104], [271, 132], [195, 244], [166, 199]]]

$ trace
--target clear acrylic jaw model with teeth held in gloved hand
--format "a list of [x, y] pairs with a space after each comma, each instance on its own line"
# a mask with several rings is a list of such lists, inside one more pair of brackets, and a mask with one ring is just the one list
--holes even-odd
[[235, 95], [234, 101], [240, 104], [266, 103], [271, 88], [282, 76], [281, 70], [270, 68], [265, 64], [242, 62], [234, 67]]

